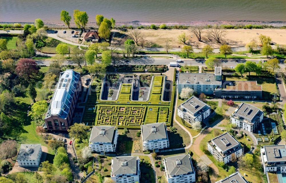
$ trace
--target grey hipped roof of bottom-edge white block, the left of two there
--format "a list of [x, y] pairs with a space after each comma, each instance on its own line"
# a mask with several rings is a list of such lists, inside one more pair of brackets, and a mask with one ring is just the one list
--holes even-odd
[[112, 175], [137, 174], [138, 156], [120, 156], [112, 159]]

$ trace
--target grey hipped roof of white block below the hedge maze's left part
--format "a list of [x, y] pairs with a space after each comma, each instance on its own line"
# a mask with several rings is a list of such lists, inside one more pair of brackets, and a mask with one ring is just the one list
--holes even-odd
[[113, 143], [115, 131], [115, 126], [94, 126], [89, 141]]

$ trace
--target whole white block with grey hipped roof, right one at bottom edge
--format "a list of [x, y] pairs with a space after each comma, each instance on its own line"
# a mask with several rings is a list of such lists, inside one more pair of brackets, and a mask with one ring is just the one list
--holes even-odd
[[190, 154], [164, 158], [163, 164], [168, 183], [196, 182], [196, 172], [192, 165]]

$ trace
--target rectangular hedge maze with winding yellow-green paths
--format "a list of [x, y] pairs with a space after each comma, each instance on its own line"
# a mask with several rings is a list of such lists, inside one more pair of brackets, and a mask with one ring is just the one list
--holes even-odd
[[96, 125], [140, 126], [145, 111], [145, 106], [100, 106], [97, 110]]

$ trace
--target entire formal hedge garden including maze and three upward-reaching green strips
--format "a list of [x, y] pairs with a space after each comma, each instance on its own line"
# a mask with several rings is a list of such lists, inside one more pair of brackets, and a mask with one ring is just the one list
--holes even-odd
[[85, 103], [83, 122], [86, 125], [113, 125], [119, 128], [140, 129], [140, 125], [146, 123], [165, 122], [171, 125], [172, 108], [174, 103], [174, 86], [172, 101], [164, 102], [163, 97], [164, 76], [154, 76], [150, 86], [148, 101], [131, 101], [132, 84], [122, 84], [116, 101], [100, 100], [102, 82], [94, 80], [92, 90]]

